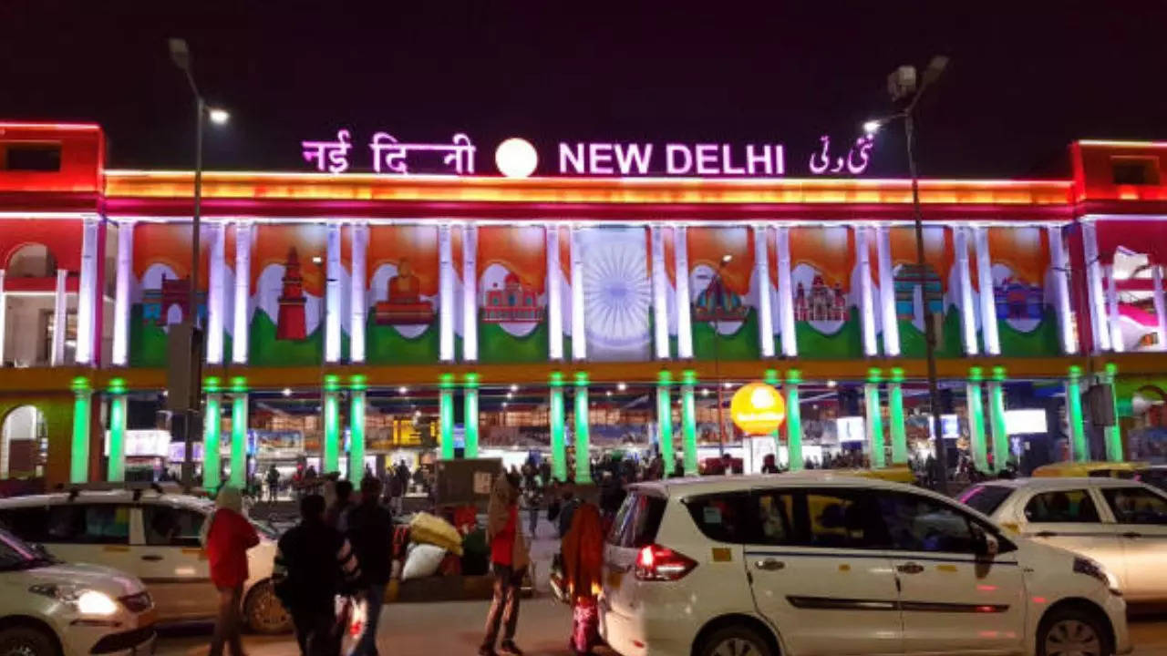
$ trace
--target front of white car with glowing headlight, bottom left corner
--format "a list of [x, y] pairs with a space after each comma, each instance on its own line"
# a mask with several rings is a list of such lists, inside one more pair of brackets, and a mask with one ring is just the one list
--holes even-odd
[[0, 654], [146, 656], [154, 607], [134, 577], [61, 564], [0, 530]]

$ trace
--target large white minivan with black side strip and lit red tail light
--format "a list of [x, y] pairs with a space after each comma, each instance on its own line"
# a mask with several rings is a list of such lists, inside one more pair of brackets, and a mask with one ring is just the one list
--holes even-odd
[[1131, 650], [1110, 577], [900, 483], [668, 480], [615, 518], [600, 633], [624, 656], [1109, 656]]

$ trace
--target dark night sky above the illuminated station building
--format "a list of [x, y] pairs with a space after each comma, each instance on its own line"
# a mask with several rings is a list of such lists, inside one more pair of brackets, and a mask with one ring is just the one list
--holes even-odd
[[[820, 134], [852, 140], [890, 110], [896, 65], [944, 54], [922, 173], [1048, 176], [1076, 138], [1167, 139], [1165, 30], [1162, 1], [5, 0], [0, 117], [97, 121], [111, 167], [190, 167], [193, 100], [166, 47], [182, 36], [232, 112], [208, 132], [211, 169], [308, 170], [300, 141], [338, 127], [357, 144], [467, 132], [480, 173], [512, 135], [543, 172], [576, 140], [783, 142], [804, 169]], [[881, 133], [869, 175], [904, 170], [902, 133]]]

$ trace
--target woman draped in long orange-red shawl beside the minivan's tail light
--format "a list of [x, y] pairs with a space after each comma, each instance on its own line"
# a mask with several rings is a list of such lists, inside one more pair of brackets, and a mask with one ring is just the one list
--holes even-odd
[[603, 531], [600, 508], [584, 502], [572, 516], [564, 536], [564, 587], [572, 603], [572, 635], [568, 643], [578, 654], [591, 654], [600, 643], [600, 616], [595, 599], [603, 565]]

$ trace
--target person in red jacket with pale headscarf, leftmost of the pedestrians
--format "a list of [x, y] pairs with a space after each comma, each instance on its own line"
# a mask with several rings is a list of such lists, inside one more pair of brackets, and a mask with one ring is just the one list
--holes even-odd
[[247, 580], [247, 550], [259, 544], [259, 535], [243, 516], [243, 495], [224, 486], [215, 497], [215, 512], [203, 522], [203, 549], [211, 567], [211, 582], [218, 591], [218, 615], [209, 656], [221, 656], [229, 644], [232, 656], [243, 656], [239, 629], [239, 599]]

